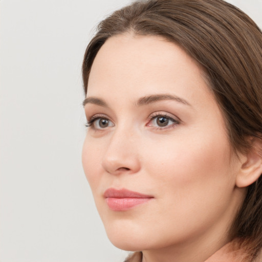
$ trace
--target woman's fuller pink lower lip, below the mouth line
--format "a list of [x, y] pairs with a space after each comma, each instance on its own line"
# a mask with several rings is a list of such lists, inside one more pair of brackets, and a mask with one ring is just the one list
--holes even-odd
[[125, 211], [143, 204], [152, 198], [106, 198], [106, 203], [113, 211]]

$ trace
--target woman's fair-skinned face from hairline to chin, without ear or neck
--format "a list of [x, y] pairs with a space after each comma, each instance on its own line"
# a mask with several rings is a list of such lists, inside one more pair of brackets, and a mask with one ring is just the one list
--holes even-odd
[[190, 56], [161, 37], [111, 37], [94, 60], [84, 108], [83, 168], [114, 245], [225, 241], [242, 201], [240, 165]]

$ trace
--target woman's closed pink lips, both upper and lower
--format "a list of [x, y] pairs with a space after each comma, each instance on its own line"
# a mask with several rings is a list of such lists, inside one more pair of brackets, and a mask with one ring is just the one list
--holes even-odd
[[104, 198], [108, 207], [114, 211], [125, 211], [137, 205], [143, 204], [153, 197], [127, 189], [108, 188], [104, 192]]

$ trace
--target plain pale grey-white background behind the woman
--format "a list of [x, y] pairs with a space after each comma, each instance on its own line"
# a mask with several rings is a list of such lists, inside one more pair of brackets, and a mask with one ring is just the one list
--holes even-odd
[[[0, 261], [121, 262], [81, 166], [81, 61], [129, 0], [1, 0]], [[262, 28], [262, 0], [231, 0]]]

